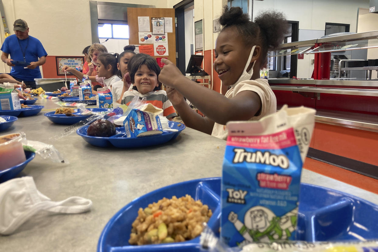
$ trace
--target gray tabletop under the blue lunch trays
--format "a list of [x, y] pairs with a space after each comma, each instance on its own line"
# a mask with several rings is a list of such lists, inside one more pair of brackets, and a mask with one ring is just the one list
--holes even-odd
[[[39, 213], [12, 235], [0, 235], [0, 251], [95, 251], [108, 220], [127, 203], [152, 190], [177, 182], [221, 176], [226, 141], [186, 128], [177, 139], [141, 149], [98, 148], [73, 133], [63, 132], [43, 113], [57, 108], [57, 100], [39, 99], [45, 106], [36, 116], [20, 117], [0, 133], [25, 132], [29, 140], [53, 144], [70, 164], [56, 164], [36, 156], [19, 176], [33, 176], [37, 189], [53, 201], [70, 196], [91, 199], [90, 212]], [[378, 204], [374, 193], [309, 170], [302, 182], [350, 193]]]

